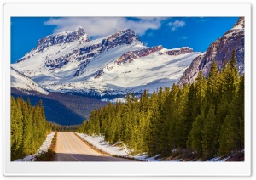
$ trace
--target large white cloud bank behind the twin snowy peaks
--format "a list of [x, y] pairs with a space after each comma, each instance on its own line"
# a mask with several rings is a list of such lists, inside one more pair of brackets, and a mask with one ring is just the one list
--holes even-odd
[[148, 29], [156, 30], [165, 18], [136, 18], [125, 17], [65, 17], [51, 18], [44, 25], [56, 25], [54, 32], [67, 31], [82, 26], [90, 37], [103, 37], [125, 28], [134, 30], [137, 35], [143, 35]]

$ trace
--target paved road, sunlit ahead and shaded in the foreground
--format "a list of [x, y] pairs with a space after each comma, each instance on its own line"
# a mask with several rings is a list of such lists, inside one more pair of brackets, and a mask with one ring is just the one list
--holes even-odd
[[90, 148], [73, 132], [57, 132], [55, 161], [132, 161], [103, 155]]

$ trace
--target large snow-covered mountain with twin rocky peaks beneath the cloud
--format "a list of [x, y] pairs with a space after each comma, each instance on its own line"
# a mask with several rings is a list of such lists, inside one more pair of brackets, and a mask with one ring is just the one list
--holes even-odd
[[189, 47], [146, 47], [125, 29], [90, 40], [82, 28], [49, 35], [11, 66], [49, 91], [140, 93], [177, 83], [201, 53]]

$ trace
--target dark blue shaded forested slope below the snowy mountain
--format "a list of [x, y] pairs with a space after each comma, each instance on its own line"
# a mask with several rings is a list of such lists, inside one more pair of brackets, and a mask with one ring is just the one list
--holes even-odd
[[15, 98], [20, 97], [20, 95], [24, 99], [29, 98], [32, 105], [37, 104], [42, 99], [47, 121], [62, 126], [79, 125], [84, 119], [89, 117], [91, 110], [107, 105], [106, 102], [96, 98], [69, 93], [49, 93], [49, 95], [32, 93], [27, 95], [18, 89], [12, 88], [12, 95]]

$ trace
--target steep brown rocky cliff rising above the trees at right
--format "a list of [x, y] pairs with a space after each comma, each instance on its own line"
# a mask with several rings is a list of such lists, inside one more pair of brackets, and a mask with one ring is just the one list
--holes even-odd
[[244, 73], [244, 17], [238, 19], [230, 31], [224, 33], [223, 37], [218, 38], [207, 48], [202, 57], [197, 57], [183, 73], [177, 83], [183, 84], [194, 82], [198, 72], [201, 70], [204, 76], [208, 76], [212, 61], [215, 59], [218, 69], [224, 65], [224, 59], [231, 58], [232, 51], [236, 50], [236, 65], [240, 74]]

